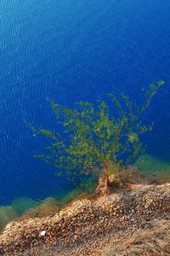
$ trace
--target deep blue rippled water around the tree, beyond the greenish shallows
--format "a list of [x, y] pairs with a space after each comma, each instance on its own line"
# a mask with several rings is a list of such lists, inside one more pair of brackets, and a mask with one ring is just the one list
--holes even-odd
[[77, 100], [124, 93], [164, 80], [144, 121], [155, 122], [147, 153], [170, 162], [169, 0], [1, 0], [0, 205], [71, 190], [33, 157], [47, 141], [22, 121], [54, 128], [46, 98]]

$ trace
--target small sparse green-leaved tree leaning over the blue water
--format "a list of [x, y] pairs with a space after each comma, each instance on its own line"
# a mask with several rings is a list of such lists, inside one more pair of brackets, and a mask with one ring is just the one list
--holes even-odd
[[37, 157], [53, 163], [57, 175], [98, 174], [109, 185], [109, 175], [116, 173], [117, 166], [133, 162], [144, 151], [140, 136], [151, 131], [153, 123], [146, 126], [139, 119], [163, 83], [150, 84], [142, 105], [134, 104], [125, 95], [121, 102], [109, 94], [116, 115], [104, 100], [99, 100], [97, 105], [80, 101], [75, 109], [50, 101], [61, 132], [38, 130], [52, 143], [46, 147], [47, 154]]

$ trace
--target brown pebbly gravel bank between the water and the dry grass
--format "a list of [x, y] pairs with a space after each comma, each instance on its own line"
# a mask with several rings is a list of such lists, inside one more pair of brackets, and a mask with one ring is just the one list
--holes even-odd
[[105, 247], [121, 244], [136, 230], [168, 221], [169, 202], [169, 183], [82, 198], [51, 216], [8, 224], [0, 234], [0, 255], [103, 255]]

